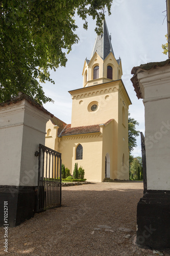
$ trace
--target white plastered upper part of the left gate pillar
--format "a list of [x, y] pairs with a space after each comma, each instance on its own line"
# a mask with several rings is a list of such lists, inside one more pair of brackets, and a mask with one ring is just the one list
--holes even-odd
[[0, 185], [37, 185], [39, 143], [50, 115], [27, 100], [0, 108]]

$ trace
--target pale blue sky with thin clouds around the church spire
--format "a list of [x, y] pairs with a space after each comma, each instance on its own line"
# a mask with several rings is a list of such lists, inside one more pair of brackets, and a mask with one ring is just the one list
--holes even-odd
[[[113, 0], [111, 15], [105, 12], [105, 19], [115, 58], [122, 59], [122, 80], [132, 101], [129, 106], [131, 117], [139, 122], [136, 129], [144, 134], [144, 106], [142, 99], [137, 99], [131, 82], [133, 67], [148, 62], [164, 61], [168, 57], [162, 53], [162, 44], [166, 43], [167, 33], [165, 0]], [[41, 84], [45, 95], [55, 102], [44, 104], [44, 108], [66, 123], [71, 123], [70, 90], [83, 87], [84, 60], [90, 58], [94, 45], [95, 20], [88, 17], [88, 30], [83, 29], [83, 20], [75, 16], [80, 40], [72, 46], [67, 55], [66, 67], [59, 67], [56, 72], [51, 71], [51, 78], [55, 84], [46, 82]], [[141, 156], [140, 137], [137, 147], [132, 152], [134, 157]]]

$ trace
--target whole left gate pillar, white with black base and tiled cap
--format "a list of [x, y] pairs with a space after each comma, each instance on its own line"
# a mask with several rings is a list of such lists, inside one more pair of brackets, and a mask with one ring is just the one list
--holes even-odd
[[45, 142], [50, 116], [22, 93], [0, 103], [0, 226], [17, 226], [34, 216], [38, 182], [35, 152], [39, 143]]

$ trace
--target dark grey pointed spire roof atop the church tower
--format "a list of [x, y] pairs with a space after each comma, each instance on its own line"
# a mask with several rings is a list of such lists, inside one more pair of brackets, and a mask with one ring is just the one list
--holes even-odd
[[113, 53], [113, 48], [111, 45], [111, 35], [109, 35], [105, 19], [103, 20], [102, 27], [103, 33], [96, 37], [90, 59], [95, 52], [98, 53], [103, 60], [109, 55], [110, 52]]

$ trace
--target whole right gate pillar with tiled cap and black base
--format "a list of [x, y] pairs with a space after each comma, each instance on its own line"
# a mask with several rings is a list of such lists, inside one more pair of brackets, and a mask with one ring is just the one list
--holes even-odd
[[145, 112], [147, 191], [137, 205], [137, 243], [170, 247], [170, 60], [132, 69]]

